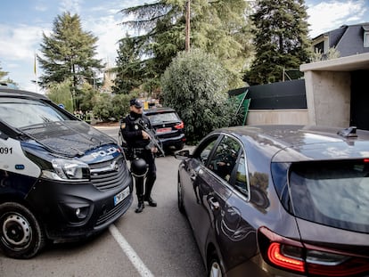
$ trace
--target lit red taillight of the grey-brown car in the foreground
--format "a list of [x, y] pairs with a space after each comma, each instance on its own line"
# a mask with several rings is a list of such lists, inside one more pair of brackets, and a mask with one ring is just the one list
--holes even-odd
[[369, 260], [284, 238], [266, 227], [258, 230], [258, 245], [267, 264], [309, 276], [355, 276], [369, 272]]

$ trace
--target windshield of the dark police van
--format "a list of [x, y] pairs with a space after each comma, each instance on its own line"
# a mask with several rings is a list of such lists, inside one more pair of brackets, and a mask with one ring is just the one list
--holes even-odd
[[0, 118], [9, 126], [16, 128], [70, 120], [68, 116], [46, 102], [7, 97], [0, 98]]

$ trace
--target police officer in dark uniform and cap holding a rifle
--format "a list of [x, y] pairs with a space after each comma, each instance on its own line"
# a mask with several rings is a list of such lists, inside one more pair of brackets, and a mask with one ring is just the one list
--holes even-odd
[[[138, 205], [135, 208], [136, 213], [141, 213], [144, 208], [144, 201], [150, 206], [156, 207], [157, 203], [152, 200], [152, 186], [156, 180], [155, 155], [158, 149], [151, 142], [150, 135], [144, 129], [152, 129], [149, 118], [143, 115], [143, 105], [137, 99], [132, 99], [129, 102], [129, 114], [125, 118], [125, 124], [122, 124], [122, 135], [127, 142], [128, 151], [133, 153], [132, 163], [143, 159], [147, 164], [146, 182], [143, 181], [144, 175], [135, 175], [135, 191], [137, 194]], [[137, 163], [138, 164], [138, 163]]]

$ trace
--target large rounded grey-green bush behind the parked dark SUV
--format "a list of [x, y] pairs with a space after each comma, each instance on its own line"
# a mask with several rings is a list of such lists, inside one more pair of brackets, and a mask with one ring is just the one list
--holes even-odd
[[199, 49], [178, 53], [161, 77], [164, 104], [184, 120], [188, 143], [228, 126], [235, 110], [228, 102], [228, 75], [216, 56]]

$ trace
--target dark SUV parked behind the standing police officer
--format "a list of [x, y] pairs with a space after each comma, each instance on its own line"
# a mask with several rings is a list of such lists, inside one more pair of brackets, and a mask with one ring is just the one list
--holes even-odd
[[[179, 118], [176, 110], [161, 107], [143, 110], [143, 114], [150, 119], [154, 136], [164, 151], [179, 151], [184, 148], [184, 122]], [[119, 143], [127, 149], [127, 143], [119, 128]]]

